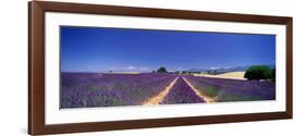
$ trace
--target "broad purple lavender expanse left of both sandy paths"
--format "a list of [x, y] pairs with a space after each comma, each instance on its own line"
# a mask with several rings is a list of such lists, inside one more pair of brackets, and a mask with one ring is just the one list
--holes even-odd
[[61, 108], [138, 106], [164, 89], [171, 74], [61, 74]]

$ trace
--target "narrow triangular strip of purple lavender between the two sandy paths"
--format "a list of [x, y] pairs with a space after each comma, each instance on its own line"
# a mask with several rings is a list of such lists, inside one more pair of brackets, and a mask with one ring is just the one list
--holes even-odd
[[195, 91], [185, 83], [182, 76], [179, 76], [174, 86], [170, 89], [166, 96], [162, 104], [174, 104], [174, 103], [199, 103], [205, 102], [199, 98]]

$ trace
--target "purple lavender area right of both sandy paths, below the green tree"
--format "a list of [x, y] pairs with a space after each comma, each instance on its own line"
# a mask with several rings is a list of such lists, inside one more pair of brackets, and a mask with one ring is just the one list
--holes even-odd
[[210, 77], [184, 76], [203, 94], [217, 101], [274, 100], [276, 83], [259, 81], [238, 81]]

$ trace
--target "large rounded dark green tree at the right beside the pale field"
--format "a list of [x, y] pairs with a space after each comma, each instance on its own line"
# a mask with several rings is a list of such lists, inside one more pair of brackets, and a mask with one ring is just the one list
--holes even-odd
[[268, 65], [253, 65], [244, 74], [247, 79], [268, 79], [271, 78], [271, 70]]

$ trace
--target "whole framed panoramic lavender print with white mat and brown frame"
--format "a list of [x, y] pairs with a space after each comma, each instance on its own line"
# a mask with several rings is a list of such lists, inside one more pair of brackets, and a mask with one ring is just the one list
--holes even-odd
[[28, 10], [29, 134], [292, 119], [292, 17]]

